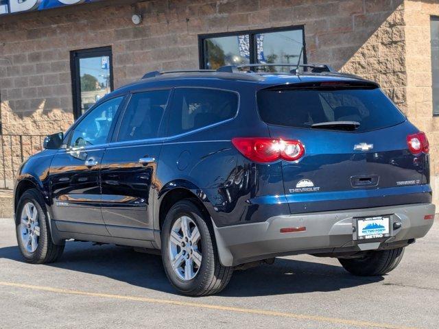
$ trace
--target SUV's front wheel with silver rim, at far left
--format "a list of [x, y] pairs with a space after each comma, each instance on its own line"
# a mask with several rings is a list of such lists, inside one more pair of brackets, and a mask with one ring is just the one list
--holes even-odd
[[16, 208], [17, 243], [28, 263], [53, 263], [64, 251], [51, 239], [49, 218], [42, 195], [36, 188], [23, 193]]

